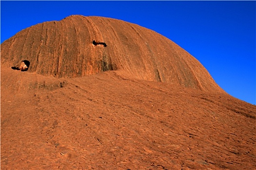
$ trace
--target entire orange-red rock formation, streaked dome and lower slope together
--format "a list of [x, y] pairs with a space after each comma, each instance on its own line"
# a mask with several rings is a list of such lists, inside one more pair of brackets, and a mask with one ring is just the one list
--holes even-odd
[[70, 16], [1, 44], [1, 170], [255, 170], [255, 123], [255, 105], [136, 24]]

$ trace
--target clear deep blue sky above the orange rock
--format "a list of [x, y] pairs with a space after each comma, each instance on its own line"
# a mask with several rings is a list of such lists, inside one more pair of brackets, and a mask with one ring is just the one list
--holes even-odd
[[188, 51], [230, 95], [256, 104], [256, 1], [0, 1], [1, 43], [70, 15], [136, 23]]

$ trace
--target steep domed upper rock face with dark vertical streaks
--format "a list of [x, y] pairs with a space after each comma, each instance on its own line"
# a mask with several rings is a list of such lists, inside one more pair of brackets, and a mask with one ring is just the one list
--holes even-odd
[[105, 17], [70, 16], [24, 29], [1, 44], [1, 64], [28, 60], [29, 72], [81, 77], [119, 70], [137, 79], [222, 91], [208, 71], [168, 38]]

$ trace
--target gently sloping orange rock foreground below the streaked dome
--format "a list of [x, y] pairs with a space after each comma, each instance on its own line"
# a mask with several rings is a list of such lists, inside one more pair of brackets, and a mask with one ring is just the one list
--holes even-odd
[[1, 170], [254, 170], [256, 106], [131, 79], [1, 69]]

